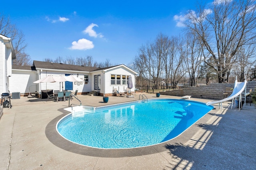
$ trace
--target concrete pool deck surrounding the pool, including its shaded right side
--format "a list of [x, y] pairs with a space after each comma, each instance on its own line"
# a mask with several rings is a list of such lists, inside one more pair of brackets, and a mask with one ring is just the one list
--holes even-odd
[[[156, 94], [145, 94], [156, 98]], [[138, 100], [78, 95], [82, 105], [104, 106]], [[160, 98], [177, 96], [161, 95]], [[190, 98], [199, 102], [211, 100]], [[171, 141], [137, 149], [93, 149], [62, 139], [56, 121], [68, 113], [66, 102], [21, 97], [11, 100], [0, 119], [0, 169], [254, 169], [256, 165], [256, 109], [238, 111], [231, 102], [218, 104]], [[71, 103], [78, 104], [72, 100]]]

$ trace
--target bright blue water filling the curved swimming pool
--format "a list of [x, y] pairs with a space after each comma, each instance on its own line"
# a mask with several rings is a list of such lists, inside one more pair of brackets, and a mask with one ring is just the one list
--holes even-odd
[[89, 147], [144, 147], [177, 137], [211, 109], [190, 100], [156, 99], [70, 113], [56, 128], [62, 137]]

